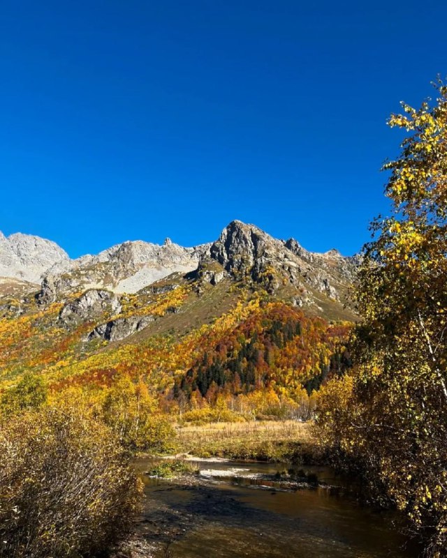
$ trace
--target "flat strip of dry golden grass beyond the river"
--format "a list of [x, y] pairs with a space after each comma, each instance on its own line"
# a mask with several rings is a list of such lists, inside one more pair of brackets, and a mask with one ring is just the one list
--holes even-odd
[[311, 425], [296, 421], [210, 423], [178, 429], [183, 453], [200, 458], [309, 463], [316, 460]]

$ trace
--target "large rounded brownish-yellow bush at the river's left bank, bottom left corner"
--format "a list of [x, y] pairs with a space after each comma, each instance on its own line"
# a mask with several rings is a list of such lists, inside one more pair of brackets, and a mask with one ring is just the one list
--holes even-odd
[[140, 483], [110, 430], [44, 408], [0, 425], [0, 557], [95, 557], [124, 537]]

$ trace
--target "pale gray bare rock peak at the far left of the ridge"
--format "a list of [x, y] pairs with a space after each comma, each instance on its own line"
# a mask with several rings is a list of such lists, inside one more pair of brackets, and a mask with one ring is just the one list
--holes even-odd
[[52, 241], [20, 232], [6, 237], [0, 232], [0, 277], [36, 284], [50, 267], [66, 261], [66, 252]]

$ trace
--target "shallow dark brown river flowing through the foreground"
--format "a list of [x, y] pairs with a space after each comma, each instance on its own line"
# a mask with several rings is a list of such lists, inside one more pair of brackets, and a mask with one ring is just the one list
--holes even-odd
[[[145, 481], [140, 534], [159, 556], [173, 558], [416, 557], [393, 527], [396, 515], [362, 506], [346, 479], [306, 467], [315, 486], [277, 481], [288, 465], [196, 462], [197, 479], [149, 478], [154, 460], [139, 460]], [[330, 488], [332, 487], [332, 488]], [[169, 544], [169, 552], [163, 548]]]

